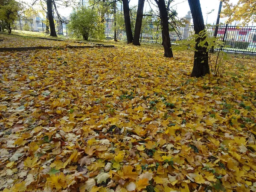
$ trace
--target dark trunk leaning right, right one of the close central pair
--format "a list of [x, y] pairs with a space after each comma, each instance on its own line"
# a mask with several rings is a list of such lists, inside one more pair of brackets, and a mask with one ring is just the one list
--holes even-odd
[[143, 19], [143, 8], [144, 8], [145, 0], [139, 0], [138, 2], [138, 10], [136, 16], [136, 23], [135, 23], [135, 31], [134, 31], [134, 45], [140, 45], [140, 30], [142, 26], [142, 19]]

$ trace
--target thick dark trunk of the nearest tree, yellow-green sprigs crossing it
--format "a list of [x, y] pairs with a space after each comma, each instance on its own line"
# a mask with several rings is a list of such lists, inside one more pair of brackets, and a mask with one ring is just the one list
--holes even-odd
[[[188, 2], [189, 2], [189, 7], [192, 13], [195, 34], [199, 34], [199, 32], [203, 31], [205, 28], [200, 1], [188, 0]], [[207, 47], [198, 46], [198, 43], [200, 41], [204, 41], [204, 39], [205, 38], [196, 39], [195, 49], [197, 51], [195, 51], [195, 55], [194, 55], [194, 66], [191, 73], [192, 77], [201, 77], [210, 73]]]

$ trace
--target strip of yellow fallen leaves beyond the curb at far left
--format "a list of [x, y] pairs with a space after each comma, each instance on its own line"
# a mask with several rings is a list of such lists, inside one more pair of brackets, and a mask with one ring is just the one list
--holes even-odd
[[[16, 35], [0, 34], [0, 48], [3, 47], [66, 47], [66, 46], [92, 46], [90, 43], [74, 43], [72, 41], [52, 41], [47, 39], [21, 37]], [[19, 42], [17, 44], [17, 42]]]

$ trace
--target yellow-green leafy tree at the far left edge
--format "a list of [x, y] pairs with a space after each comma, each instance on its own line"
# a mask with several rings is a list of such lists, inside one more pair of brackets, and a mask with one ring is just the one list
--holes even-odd
[[15, 0], [0, 0], [0, 29], [12, 32], [14, 21], [20, 16], [22, 4]]

